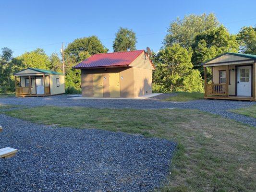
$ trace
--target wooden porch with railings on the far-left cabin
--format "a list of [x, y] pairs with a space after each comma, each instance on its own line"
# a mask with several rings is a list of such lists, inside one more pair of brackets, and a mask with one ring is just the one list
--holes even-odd
[[17, 76], [15, 76], [15, 95], [19, 96], [49, 96], [50, 95], [50, 86], [46, 86], [45, 84], [45, 75], [43, 76], [43, 84], [44, 84], [44, 94], [33, 94], [32, 93], [32, 84], [31, 84], [31, 75], [27, 75], [29, 80], [29, 86], [19, 86], [19, 82], [17, 80]]

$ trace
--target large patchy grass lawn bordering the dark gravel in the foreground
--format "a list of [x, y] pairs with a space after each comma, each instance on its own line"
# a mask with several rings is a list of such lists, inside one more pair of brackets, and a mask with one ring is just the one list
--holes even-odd
[[255, 192], [256, 129], [192, 109], [37, 107], [3, 113], [47, 125], [139, 133], [178, 143], [161, 192]]

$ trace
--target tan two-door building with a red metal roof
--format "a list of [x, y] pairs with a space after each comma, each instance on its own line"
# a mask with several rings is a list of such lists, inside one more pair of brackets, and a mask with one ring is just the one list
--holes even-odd
[[95, 54], [75, 65], [83, 97], [138, 97], [152, 93], [152, 70], [144, 50]]

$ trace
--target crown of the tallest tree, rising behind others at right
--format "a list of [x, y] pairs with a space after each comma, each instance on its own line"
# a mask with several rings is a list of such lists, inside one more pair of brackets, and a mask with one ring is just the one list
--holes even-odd
[[205, 13], [202, 15], [190, 14], [183, 19], [177, 18], [171, 22], [163, 43], [165, 46], [178, 43], [183, 48], [190, 48], [194, 43], [195, 36], [218, 26], [219, 21], [213, 13], [208, 15]]

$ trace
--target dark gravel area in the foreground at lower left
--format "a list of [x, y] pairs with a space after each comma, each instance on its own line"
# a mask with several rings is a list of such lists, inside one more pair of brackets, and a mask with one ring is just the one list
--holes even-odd
[[175, 143], [121, 132], [54, 128], [0, 115], [0, 191], [147, 192], [165, 180]]

